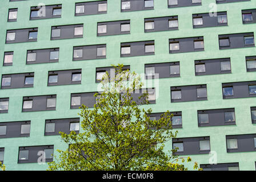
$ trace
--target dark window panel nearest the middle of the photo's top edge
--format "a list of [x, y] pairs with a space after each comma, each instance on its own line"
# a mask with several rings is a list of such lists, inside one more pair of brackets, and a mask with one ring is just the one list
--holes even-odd
[[121, 12], [153, 9], [154, 0], [121, 0]]

